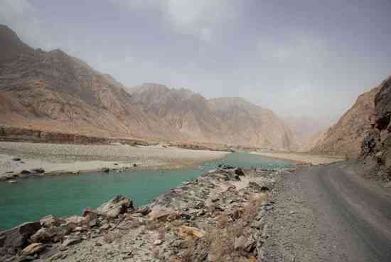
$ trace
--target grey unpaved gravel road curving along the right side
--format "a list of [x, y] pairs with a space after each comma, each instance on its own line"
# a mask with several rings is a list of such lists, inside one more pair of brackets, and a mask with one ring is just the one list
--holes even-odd
[[391, 261], [391, 192], [343, 163], [282, 178], [265, 261]]

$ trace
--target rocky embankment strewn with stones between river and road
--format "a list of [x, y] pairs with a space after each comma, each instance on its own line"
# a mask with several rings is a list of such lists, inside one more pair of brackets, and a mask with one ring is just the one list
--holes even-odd
[[268, 196], [289, 170], [220, 167], [135, 207], [116, 196], [82, 216], [0, 233], [0, 261], [259, 261]]

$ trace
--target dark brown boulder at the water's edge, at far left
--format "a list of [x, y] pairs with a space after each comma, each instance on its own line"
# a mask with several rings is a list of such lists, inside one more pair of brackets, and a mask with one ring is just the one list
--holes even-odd
[[41, 229], [39, 222], [27, 222], [1, 232], [0, 238], [4, 239], [4, 247], [20, 250], [27, 246], [28, 238], [39, 229]]

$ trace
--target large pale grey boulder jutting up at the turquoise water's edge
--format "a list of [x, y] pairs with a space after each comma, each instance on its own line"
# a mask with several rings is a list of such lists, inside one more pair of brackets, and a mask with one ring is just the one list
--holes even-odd
[[132, 199], [127, 199], [124, 196], [115, 196], [114, 199], [98, 207], [97, 213], [117, 218], [119, 214], [124, 214], [128, 210], [134, 210]]

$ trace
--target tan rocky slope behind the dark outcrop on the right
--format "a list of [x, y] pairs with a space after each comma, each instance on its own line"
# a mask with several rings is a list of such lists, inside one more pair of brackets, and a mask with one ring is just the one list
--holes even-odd
[[348, 158], [360, 155], [361, 143], [371, 130], [375, 112], [375, 95], [380, 90], [373, 88], [358, 97], [336, 125], [321, 133], [312, 142], [311, 152], [320, 154], [340, 154]]

